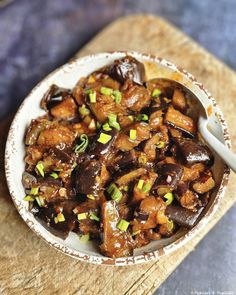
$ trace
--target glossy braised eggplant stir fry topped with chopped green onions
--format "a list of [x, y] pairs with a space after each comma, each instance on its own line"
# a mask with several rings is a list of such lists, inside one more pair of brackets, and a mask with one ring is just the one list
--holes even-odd
[[174, 82], [116, 60], [75, 87], [52, 85], [25, 136], [29, 210], [108, 257], [193, 227], [215, 187], [213, 156]]

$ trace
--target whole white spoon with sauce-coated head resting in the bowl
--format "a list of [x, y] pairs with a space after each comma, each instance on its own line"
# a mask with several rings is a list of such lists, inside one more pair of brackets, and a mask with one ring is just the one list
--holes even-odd
[[[221, 141], [219, 141], [208, 129], [208, 115], [207, 111], [204, 108], [202, 102], [198, 97], [189, 90], [183, 84], [176, 82], [170, 79], [160, 79], [160, 81], [166, 81], [168, 83], [174, 83], [179, 85], [181, 88], [185, 90], [185, 92], [189, 93], [189, 98], [194, 100], [194, 113], [196, 115], [196, 110], [198, 113], [198, 130], [204, 138], [205, 142], [218, 154], [218, 156], [224, 160], [224, 162], [234, 171], [236, 172], [236, 155], [230, 151]], [[197, 102], [197, 106], [196, 106]], [[191, 104], [191, 102], [190, 102]]]

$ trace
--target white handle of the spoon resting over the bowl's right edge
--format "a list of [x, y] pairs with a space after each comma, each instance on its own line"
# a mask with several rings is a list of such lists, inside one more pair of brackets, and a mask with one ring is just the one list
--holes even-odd
[[207, 128], [207, 120], [200, 117], [199, 131], [209, 146], [224, 160], [224, 162], [236, 172], [236, 155], [220, 142]]

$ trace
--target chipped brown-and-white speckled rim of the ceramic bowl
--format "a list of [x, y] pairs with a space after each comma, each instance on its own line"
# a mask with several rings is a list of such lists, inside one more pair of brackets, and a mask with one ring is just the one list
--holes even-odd
[[201, 230], [203, 225], [208, 223], [210, 217], [215, 213], [217, 207], [219, 206], [219, 202], [224, 195], [224, 192], [229, 180], [230, 169], [228, 168], [228, 166], [227, 165], [224, 166], [224, 171], [223, 171], [223, 176], [220, 182], [220, 186], [212, 204], [210, 205], [208, 210], [205, 212], [205, 214], [202, 216], [202, 218], [199, 220], [199, 222], [192, 229], [188, 230], [185, 234], [183, 234], [180, 238], [176, 239], [174, 242], [167, 244], [165, 246], [162, 246], [158, 250], [154, 250], [154, 251], [147, 252], [145, 254], [141, 254], [137, 256], [129, 256], [129, 257], [121, 257], [121, 258], [110, 258], [105, 256], [95, 256], [95, 255], [85, 254], [84, 252], [81, 252], [80, 250], [71, 249], [68, 246], [62, 245], [60, 242], [49, 241], [46, 235], [44, 235], [40, 231], [37, 231], [37, 227], [39, 226], [39, 221], [35, 221], [35, 223], [33, 224], [31, 221], [27, 219], [27, 216], [25, 216], [24, 214], [20, 212], [21, 206], [17, 202], [17, 197], [14, 195], [13, 190], [11, 189], [11, 187], [14, 186], [14, 184], [12, 184], [10, 179], [11, 171], [9, 167], [10, 157], [11, 157], [11, 142], [13, 140], [14, 125], [17, 122], [18, 115], [20, 113], [19, 111], [23, 109], [24, 106], [28, 103], [31, 96], [34, 95], [34, 92], [38, 88], [40, 88], [41, 85], [44, 84], [49, 78], [53, 77], [58, 72], [62, 72], [63, 74], [63, 72], [66, 72], [67, 68], [70, 69], [70, 67], [73, 67], [77, 63], [91, 61], [94, 58], [99, 58], [99, 57], [104, 57], [105, 59], [106, 56], [112, 56], [117, 54], [125, 54], [125, 55], [134, 56], [136, 58], [139, 58], [139, 57], [144, 58], [144, 59], [147, 59], [148, 62], [153, 62], [155, 64], [162, 64], [166, 66], [167, 68], [172, 68], [172, 70], [175, 69], [176, 72], [183, 75], [187, 80], [190, 81], [190, 83], [197, 86], [201, 91], [203, 91], [206, 94], [206, 96], [210, 100], [211, 105], [214, 107], [214, 109], [217, 110], [217, 117], [223, 131], [225, 144], [229, 148], [231, 147], [228, 127], [221, 110], [219, 109], [212, 95], [206, 90], [206, 88], [202, 85], [202, 83], [197, 81], [197, 79], [192, 74], [190, 74], [185, 69], [179, 66], [176, 66], [174, 63], [153, 54], [139, 53], [137, 51], [108, 51], [108, 52], [102, 52], [97, 54], [90, 54], [90, 55], [86, 55], [86, 56], [78, 57], [78, 58], [72, 58], [69, 62], [65, 63], [64, 65], [60, 66], [59, 68], [55, 69], [50, 74], [48, 74], [30, 91], [30, 93], [26, 96], [26, 98], [21, 103], [20, 107], [18, 108], [11, 122], [11, 126], [9, 129], [9, 133], [8, 133], [8, 137], [6, 141], [6, 148], [5, 148], [5, 174], [6, 174], [6, 181], [9, 188], [9, 192], [17, 211], [19, 212], [22, 219], [26, 222], [26, 224], [30, 227], [30, 229], [34, 233], [36, 233], [37, 236], [42, 238], [47, 244], [54, 247], [58, 251], [64, 254], [67, 254], [73, 258], [76, 258], [80, 261], [86, 261], [92, 264], [127, 266], [127, 265], [134, 265], [139, 263], [145, 263], [151, 260], [160, 259], [162, 256], [167, 255], [179, 249], [180, 247], [184, 246], [190, 239], [192, 239]]

